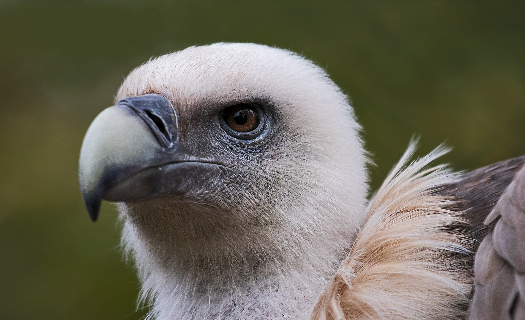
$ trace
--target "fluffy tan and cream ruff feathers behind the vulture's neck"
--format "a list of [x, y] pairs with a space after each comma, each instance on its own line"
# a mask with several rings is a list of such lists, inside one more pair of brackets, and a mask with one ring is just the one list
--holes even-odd
[[457, 179], [445, 165], [425, 169], [448, 152], [440, 146], [412, 163], [415, 142], [367, 208], [349, 256], [325, 287], [310, 319], [454, 319], [468, 301], [471, 279], [447, 255], [468, 254], [465, 223], [438, 187]]

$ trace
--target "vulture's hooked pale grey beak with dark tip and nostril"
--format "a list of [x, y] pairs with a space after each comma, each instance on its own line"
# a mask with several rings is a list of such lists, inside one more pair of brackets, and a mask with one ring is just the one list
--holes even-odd
[[93, 120], [82, 142], [80, 192], [96, 221], [102, 199], [141, 201], [184, 195], [226, 168], [190, 156], [178, 144], [176, 113], [165, 97], [126, 98]]

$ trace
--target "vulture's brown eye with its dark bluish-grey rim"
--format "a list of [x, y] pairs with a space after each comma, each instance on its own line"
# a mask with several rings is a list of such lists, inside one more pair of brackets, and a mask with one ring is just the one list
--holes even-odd
[[266, 117], [259, 105], [240, 103], [219, 113], [219, 123], [230, 136], [240, 140], [257, 138], [263, 131]]

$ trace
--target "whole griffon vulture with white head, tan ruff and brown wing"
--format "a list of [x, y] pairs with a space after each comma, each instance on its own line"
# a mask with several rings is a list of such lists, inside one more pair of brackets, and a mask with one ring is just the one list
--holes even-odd
[[360, 130], [295, 53], [190, 47], [93, 120], [80, 189], [93, 220], [119, 203], [150, 318], [523, 319], [525, 157], [460, 174], [412, 143], [367, 201]]

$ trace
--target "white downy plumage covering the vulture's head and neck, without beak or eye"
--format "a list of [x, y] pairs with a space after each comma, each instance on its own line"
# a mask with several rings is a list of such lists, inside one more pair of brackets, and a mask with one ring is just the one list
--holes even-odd
[[[253, 172], [212, 206], [161, 198], [120, 205], [123, 244], [159, 319], [304, 318], [365, 217], [366, 156], [347, 97], [312, 62], [249, 43], [190, 47], [150, 60], [117, 100], [170, 98], [181, 141], [217, 105], [264, 101], [274, 141], [243, 158]], [[193, 141], [196, 144], [198, 141]], [[233, 157], [227, 148], [225, 157]], [[209, 199], [209, 198], [208, 198]]]

